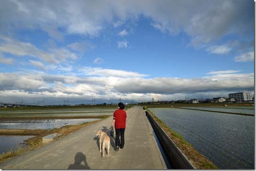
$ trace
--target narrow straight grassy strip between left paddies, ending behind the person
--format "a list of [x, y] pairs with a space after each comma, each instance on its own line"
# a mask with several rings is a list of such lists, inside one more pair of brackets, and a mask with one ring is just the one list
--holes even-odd
[[112, 115], [92, 115], [92, 116], [36, 116], [36, 117], [0, 117], [0, 120], [20, 120], [20, 119], [87, 119], [87, 118], [104, 118]]

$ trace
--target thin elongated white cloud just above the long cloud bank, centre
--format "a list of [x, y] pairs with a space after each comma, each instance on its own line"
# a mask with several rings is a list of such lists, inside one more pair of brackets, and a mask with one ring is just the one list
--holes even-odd
[[134, 78], [134, 77], [148, 76], [145, 74], [139, 74], [137, 72], [131, 72], [131, 71], [111, 70], [111, 69], [91, 68], [91, 67], [84, 67], [79, 71], [84, 73], [85, 75], [104, 76], [104, 77]]

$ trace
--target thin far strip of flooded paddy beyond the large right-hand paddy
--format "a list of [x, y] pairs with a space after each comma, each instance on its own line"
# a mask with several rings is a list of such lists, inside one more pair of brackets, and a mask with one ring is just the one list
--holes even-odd
[[254, 109], [231, 109], [231, 108], [209, 108], [209, 107], [182, 107], [185, 109], [199, 109], [199, 110], [211, 110], [218, 112], [231, 112], [231, 113], [241, 113], [241, 114], [251, 114], [254, 115]]

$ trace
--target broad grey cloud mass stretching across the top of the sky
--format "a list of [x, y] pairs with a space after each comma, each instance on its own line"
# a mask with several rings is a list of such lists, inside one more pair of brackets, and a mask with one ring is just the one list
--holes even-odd
[[149, 18], [152, 26], [160, 31], [171, 34], [184, 31], [191, 37], [193, 46], [227, 34], [248, 36], [254, 31], [251, 0], [107, 0], [100, 5], [97, 0], [15, 0], [3, 1], [0, 11], [2, 31], [41, 28], [57, 39], [61, 38], [63, 33], [58, 35], [58, 32], [63, 28], [67, 28], [64, 33], [95, 37], [109, 24], [118, 27], [139, 17]]

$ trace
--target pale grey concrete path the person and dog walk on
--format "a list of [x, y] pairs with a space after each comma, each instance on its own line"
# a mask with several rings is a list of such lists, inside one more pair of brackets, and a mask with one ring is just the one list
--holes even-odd
[[[127, 110], [125, 146], [102, 158], [96, 132], [112, 117], [0, 164], [0, 169], [167, 169], [142, 107]], [[109, 132], [108, 132], [109, 134]]]

